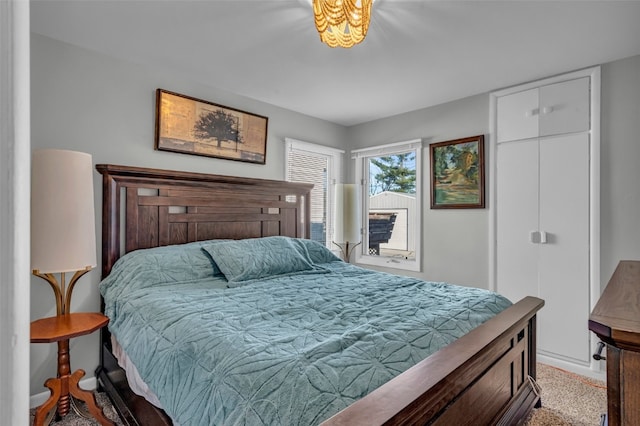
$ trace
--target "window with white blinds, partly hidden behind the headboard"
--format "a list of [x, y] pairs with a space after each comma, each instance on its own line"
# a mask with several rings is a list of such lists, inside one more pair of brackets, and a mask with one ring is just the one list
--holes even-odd
[[286, 180], [314, 185], [311, 239], [332, 248], [333, 184], [341, 181], [344, 151], [289, 138], [285, 144]]

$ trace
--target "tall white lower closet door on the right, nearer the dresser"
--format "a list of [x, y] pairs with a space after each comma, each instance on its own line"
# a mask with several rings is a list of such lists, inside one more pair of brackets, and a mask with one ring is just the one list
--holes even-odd
[[540, 139], [538, 349], [589, 362], [589, 135]]

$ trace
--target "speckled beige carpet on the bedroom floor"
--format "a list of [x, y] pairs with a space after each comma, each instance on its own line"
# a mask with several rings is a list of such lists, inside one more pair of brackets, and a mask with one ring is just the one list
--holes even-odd
[[[538, 364], [537, 383], [540, 386], [542, 408], [535, 409], [527, 426], [599, 426], [600, 416], [607, 410], [607, 391], [603, 382], [578, 376], [564, 370]], [[122, 425], [109, 398], [96, 394], [98, 404], [104, 407], [105, 415]], [[31, 415], [33, 416], [31, 410]], [[33, 417], [31, 417], [33, 423]], [[60, 426], [94, 426], [99, 423], [78, 416], [73, 410]]]

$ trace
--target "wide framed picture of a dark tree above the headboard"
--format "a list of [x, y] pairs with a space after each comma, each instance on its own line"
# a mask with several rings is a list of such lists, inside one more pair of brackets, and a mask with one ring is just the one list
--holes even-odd
[[267, 117], [156, 91], [156, 150], [265, 164], [267, 123]]

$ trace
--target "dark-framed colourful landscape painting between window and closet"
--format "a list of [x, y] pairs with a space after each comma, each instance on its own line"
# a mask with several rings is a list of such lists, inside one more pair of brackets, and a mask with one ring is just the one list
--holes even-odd
[[484, 135], [430, 145], [431, 208], [484, 208]]

